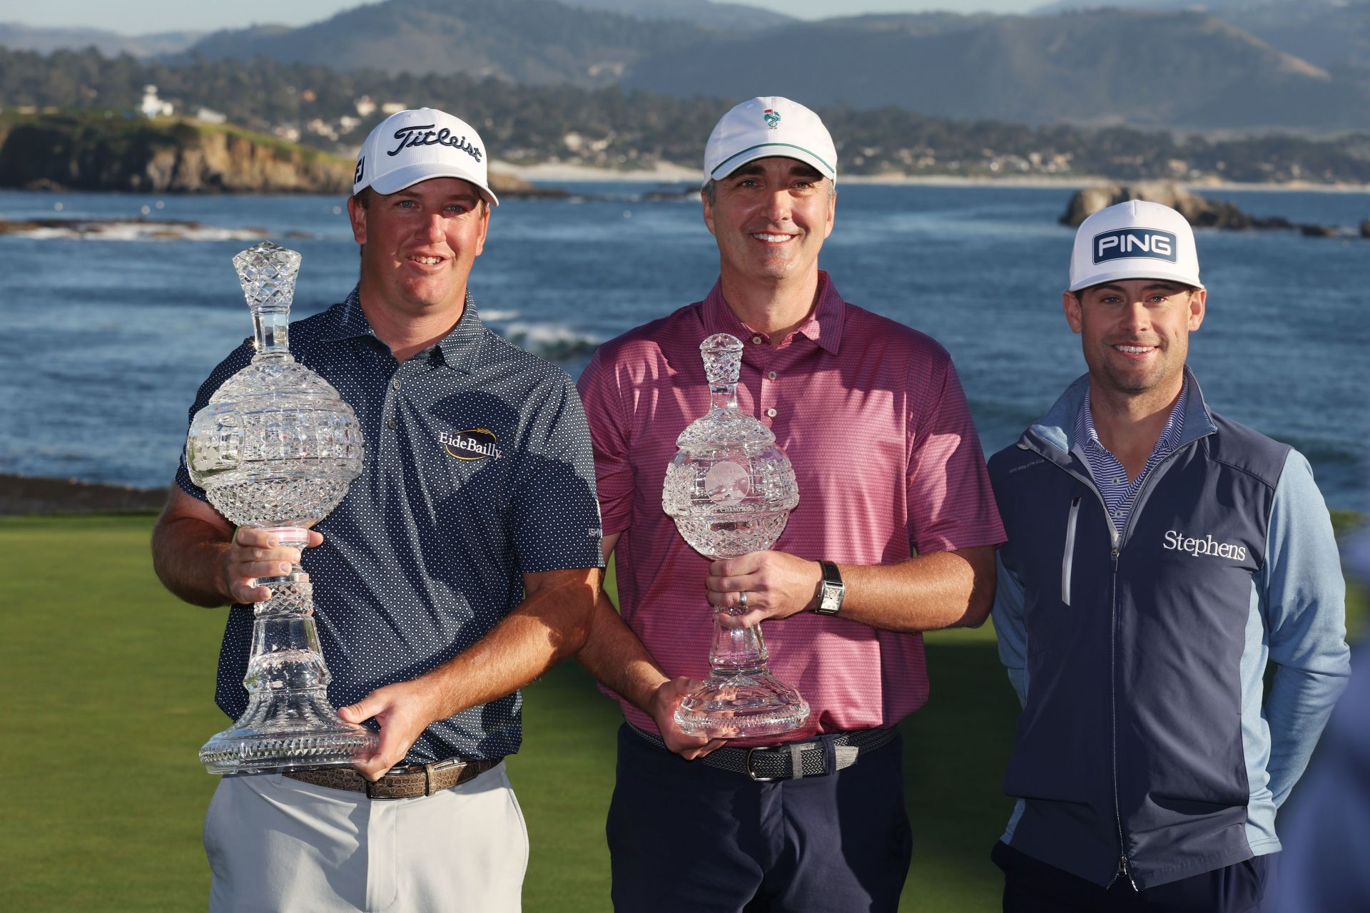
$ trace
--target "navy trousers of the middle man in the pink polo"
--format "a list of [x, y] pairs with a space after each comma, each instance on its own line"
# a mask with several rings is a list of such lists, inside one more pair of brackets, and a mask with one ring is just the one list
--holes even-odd
[[623, 725], [608, 810], [618, 913], [899, 908], [912, 839], [900, 739], [825, 776], [756, 783]]

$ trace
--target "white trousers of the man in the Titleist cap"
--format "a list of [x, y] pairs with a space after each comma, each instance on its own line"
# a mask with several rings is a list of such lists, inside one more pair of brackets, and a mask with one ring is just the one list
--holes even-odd
[[214, 913], [506, 913], [521, 909], [527, 828], [503, 764], [414, 799], [226, 776], [204, 851]]

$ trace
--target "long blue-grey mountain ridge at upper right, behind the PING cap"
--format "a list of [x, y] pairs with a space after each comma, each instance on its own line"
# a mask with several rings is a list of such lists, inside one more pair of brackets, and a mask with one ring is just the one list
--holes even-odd
[[[778, 47], [806, 66], [777, 68]], [[623, 83], [1025, 123], [1341, 130], [1370, 122], [1360, 82], [1197, 12], [826, 19], [663, 51], [632, 64]]]

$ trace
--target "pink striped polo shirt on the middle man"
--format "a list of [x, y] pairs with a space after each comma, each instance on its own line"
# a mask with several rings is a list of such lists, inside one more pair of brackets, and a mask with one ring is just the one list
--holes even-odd
[[[580, 379], [595, 442], [604, 534], [615, 549], [619, 609], [667, 675], [708, 672], [708, 558], [662, 511], [675, 435], [708, 411], [699, 344], [744, 344], [737, 405], [775, 433], [795, 465], [799, 506], [775, 549], [838, 564], [892, 564], [914, 552], [1004, 541], [966, 396], [930, 337], [843, 301], [819, 272], [818, 307], [778, 346], [704, 301], [599, 348]], [[921, 634], [801, 612], [764, 621], [771, 671], [812, 708], [806, 731], [893, 725], [927, 699]], [[615, 695], [616, 697], [616, 695]], [[634, 725], [656, 731], [626, 701]]]

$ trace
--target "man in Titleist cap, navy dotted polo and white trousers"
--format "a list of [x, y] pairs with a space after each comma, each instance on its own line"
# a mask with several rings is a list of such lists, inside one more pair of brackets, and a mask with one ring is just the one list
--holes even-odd
[[[166, 586], [234, 604], [215, 695], [230, 717], [247, 702], [249, 604], [269, 595], [256, 578], [299, 560], [329, 698], [381, 736], [355, 771], [219, 783], [211, 909], [519, 908], [527, 836], [500, 758], [522, 739], [518, 689], [584, 642], [603, 561], [575, 389], [485, 329], [467, 290], [495, 205], [470, 126], [427, 108], [381, 123], [348, 201], [360, 282], [290, 327], [296, 359], [356, 411], [360, 478], [303, 557], [234, 535], [184, 463], [158, 522]], [[248, 342], [219, 364], [190, 413], [251, 356]]]

